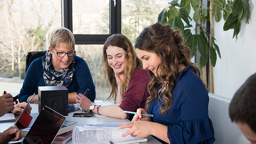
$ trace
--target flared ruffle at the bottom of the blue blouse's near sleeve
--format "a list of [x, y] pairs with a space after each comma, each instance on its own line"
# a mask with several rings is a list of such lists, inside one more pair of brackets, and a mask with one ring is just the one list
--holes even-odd
[[180, 120], [179, 125], [167, 126], [171, 144], [209, 144], [215, 141], [212, 121], [206, 117], [196, 120]]

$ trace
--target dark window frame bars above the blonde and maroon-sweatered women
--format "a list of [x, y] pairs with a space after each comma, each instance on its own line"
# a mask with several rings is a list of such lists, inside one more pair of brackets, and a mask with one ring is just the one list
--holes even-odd
[[[72, 0], [61, 0], [62, 27], [73, 32]], [[109, 0], [110, 34], [74, 34], [76, 44], [104, 44], [112, 34], [121, 34], [121, 0]]]

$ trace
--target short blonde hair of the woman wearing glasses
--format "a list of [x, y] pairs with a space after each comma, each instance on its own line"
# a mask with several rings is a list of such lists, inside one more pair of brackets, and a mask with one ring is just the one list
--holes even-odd
[[60, 44], [65, 44], [67, 49], [75, 50], [75, 38], [72, 32], [65, 28], [61, 27], [56, 30], [53, 30], [49, 36], [50, 46], [55, 48]]

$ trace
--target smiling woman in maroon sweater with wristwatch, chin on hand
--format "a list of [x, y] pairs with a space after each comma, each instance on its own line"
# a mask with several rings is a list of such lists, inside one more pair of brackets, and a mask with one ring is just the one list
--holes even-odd
[[142, 69], [130, 40], [122, 34], [110, 36], [103, 46], [102, 63], [105, 78], [112, 86], [107, 99], [114, 99], [115, 104], [120, 105], [92, 105], [83, 94], [76, 96], [77, 105], [88, 112], [121, 119], [129, 116], [122, 110], [144, 108], [151, 78], [148, 71]]

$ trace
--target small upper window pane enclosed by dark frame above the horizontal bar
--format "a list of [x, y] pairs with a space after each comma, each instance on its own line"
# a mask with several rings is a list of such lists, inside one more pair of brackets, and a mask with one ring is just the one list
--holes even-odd
[[73, 34], [109, 34], [109, 0], [73, 0]]

